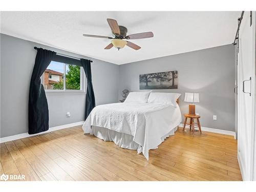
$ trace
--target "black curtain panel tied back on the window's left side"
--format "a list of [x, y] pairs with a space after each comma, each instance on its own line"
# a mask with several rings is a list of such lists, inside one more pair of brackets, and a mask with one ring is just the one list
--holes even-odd
[[41, 75], [49, 66], [55, 52], [37, 48], [35, 65], [29, 87], [29, 134], [36, 134], [49, 129], [49, 111]]

